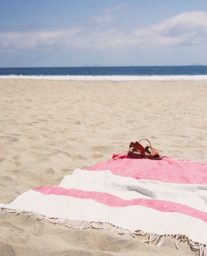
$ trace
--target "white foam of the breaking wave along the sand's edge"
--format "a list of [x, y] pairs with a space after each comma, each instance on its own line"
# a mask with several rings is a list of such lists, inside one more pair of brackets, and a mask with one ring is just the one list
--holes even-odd
[[0, 76], [0, 79], [44, 79], [77, 81], [207, 81], [207, 75], [169, 75], [169, 76]]

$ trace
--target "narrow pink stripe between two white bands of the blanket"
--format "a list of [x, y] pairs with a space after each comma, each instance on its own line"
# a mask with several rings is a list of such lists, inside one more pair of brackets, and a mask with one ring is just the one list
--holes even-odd
[[82, 198], [82, 199], [93, 199], [98, 203], [105, 204], [111, 207], [125, 207], [129, 205], [142, 205], [162, 212], [177, 212], [185, 214], [197, 219], [201, 219], [207, 222], [207, 213], [194, 209], [192, 207], [178, 204], [170, 201], [155, 200], [155, 199], [132, 199], [124, 200], [117, 196], [102, 193], [102, 192], [91, 192], [76, 189], [64, 189], [62, 187], [53, 186], [41, 186], [39, 189], [34, 191], [40, 192], [45, 195], [65, 195], [69, 197]]

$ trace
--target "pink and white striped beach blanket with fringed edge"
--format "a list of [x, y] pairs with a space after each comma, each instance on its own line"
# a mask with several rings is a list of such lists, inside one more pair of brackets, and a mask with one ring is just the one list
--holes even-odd
[[207, 255], [207, 163], [116, 156], [76, 169], [59, 186], [29, 190], [0, 210], [38, 214], [69, 228], [147, 234], [157, 246], [185, 240]]

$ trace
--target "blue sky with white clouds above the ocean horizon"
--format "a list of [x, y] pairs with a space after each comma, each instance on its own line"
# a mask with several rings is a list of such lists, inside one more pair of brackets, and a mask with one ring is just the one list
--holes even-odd
[[207, 65], [206, 0], [0, 0], [0, 67]]

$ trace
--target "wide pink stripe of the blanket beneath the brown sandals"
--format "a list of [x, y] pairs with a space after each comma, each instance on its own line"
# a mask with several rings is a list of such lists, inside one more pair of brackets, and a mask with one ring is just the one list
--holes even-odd
[[[117, 155], [114, 154], [113, 157]], [[106, 163], [100, 162], [88, 170], [110, 170], [115, 175], [132, 177], [137, 180], [207, 185], [207, 167], [191, 161], [137, 159], [126, 155], [117, 160], [110, 159]]]

